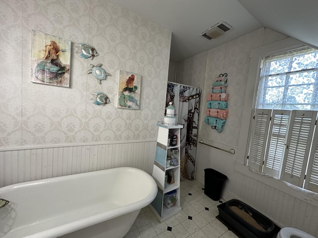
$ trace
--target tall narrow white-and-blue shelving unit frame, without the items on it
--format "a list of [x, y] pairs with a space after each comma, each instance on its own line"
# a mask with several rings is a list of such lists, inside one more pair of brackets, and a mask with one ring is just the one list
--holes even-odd
[[[157, 124], [159, 126], [155, 163], [153, 169], [153, 178], [157, 182], [158, 193], [155, 200], [151, 203], [151, 208], [154, 211], [160, 222], [174, 216], [181, 211], [180, 207], [180, 129], [182, 124], [167, 125], [163, 122]], [[177, 143], [175, 146], [168, 145], [169, 134], [177, 136]], [[173, 149], [179, 149], [178, 165], [166, 168], [166, 159]], [[167, 184], [164, 187], [166, 172], [172, 171], [174, 176], [174, 183]], [[176, 190], [176, 204], [173, 207], [167, 208], [163, 204], [163, 195], [172, 190]]]

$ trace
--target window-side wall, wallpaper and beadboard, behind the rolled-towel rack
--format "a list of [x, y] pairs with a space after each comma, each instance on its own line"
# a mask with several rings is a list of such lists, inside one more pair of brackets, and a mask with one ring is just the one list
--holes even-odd
[[[201, 53], [195, 57], [178, 63], [177, 82], [190, 84], [202, 88], [202, 100], [200, 109], [200, 123], [198, 141], [230, 150], [230, 153], [198, 143], [196, 160], [196, 179], [204, 183], [204, 169], [213, 168], [228, 176], [223, 198], [230, 200], [237, 198], [254, 207], [256, 210], [272, 219], [281, 227], [292, 226], [318, 237], [318, 198], [312, 193], [289, 186], [273, 178], [255, 174], [242, 165], [242, 148], [239, 143], [243, 109], [249, 73], [250, 51], [263, 45], [270, 44], [288, 38], [270, 29], [261, 28], [226, 43]], [[204, 56], [206, 55], [206, 60]], [[204, 72], [189, 68], [187, 64], [200, 63]], [[205, 64], [206, 66], [202, 66]], [[181, 70], [181, 71], [179, 71]], [[192, 71], [195, 71], [193, 73]], [[210, 93], [212, 82], [220, 73], [228, 73], [229, 93], [229, 117], [221, 133], [211, 129], [204, 123], [206, 111], [206, 95]], [[198, 75], [202, 73], [204, 78], [186, 78], [185, 75]], [[273, 185], [274, 184], [274, 185]]]

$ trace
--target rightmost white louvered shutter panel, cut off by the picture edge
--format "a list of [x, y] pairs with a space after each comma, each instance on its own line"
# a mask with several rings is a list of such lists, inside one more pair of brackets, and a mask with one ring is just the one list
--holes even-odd
[[312, 152], [309, 157], [307, 175], [304, 188], [318, 192], [318, 130], [316, 128], [313, 139]]

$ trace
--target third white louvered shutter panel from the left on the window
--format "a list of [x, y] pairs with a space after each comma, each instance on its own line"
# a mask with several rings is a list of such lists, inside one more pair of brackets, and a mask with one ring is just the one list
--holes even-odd
[[292, 111], [281, 179], [303, 187], [317, 111]]

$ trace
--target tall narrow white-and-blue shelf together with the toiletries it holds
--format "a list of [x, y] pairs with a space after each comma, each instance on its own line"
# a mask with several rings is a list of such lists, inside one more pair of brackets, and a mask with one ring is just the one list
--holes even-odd
[[162, 222], [181, 211], [179, 138], [180, 129], [183, 128], [183, 125], [161, 123], [157, 125], [159, 131], [153, 178], [157, 182], [158, 193], [151, 204], [151, 208], [159, 221]]

